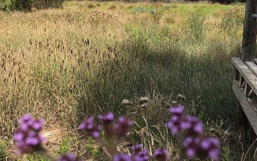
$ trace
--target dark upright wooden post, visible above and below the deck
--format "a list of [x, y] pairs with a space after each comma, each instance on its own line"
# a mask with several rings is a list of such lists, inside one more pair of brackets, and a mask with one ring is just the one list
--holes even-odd
[[[244, 33], [243, 33], [243, 45], [241, 60], [254, 61], [255, 56], [255, 43], [256, 43], [256, 19], [252, 17], [252, 14], [257, 13], [257, 1], [246, 0], [245, 7], [245, 21], [244, 21]], [[235, 124], [237, 127], [247, 125], [248, 119], [240, 102], [236, 98], [236, 116]]]

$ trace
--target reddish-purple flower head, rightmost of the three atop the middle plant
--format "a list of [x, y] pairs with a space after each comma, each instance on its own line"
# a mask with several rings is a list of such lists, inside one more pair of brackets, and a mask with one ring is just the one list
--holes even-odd
[[116, 132], [116, 135], [119, 137], [122, 137], [126, 135], [128, 132], [129, 127], [133, 124], [132, 121], [130, 121], [127, 118], [120, 117], [119, 118], [119, 123], [115, 125], [114, 130]]

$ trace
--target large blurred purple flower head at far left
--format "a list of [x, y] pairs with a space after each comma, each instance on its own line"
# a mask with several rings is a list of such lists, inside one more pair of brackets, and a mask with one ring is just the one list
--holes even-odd
[[17, 141], [16, 153], [32, 154], [46, 140], [39, 133], [43, 120], [34, 120], [29, 114], [25, 114], [18, 122], [20, 127], [14, 134], [14, 139]]

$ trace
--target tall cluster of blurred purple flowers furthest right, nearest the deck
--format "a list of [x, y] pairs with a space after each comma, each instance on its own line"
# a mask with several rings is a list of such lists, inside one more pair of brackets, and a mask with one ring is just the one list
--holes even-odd
[[181, 147], [181, 158], [204, 159], [208, 157], [215, 161], [219, 160], [219, 141], [203, 134], [203, 124], [197, 117], [185, 115], [184, 107], [181, 105], [171, 107], [169, 112], [171, 117], [167, 122], [167, 127], [174, 134], [180, 131], [187, 132]]

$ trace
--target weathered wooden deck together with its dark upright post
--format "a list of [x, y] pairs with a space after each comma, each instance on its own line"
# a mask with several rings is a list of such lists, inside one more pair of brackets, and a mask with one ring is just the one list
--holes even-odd
[[[247, 0], [245, 7], [242, 53], [240, 56], [241, 61], [239, 58], [232, 58], [232, 62], [235, 66], [233, 89], [236, 98], [238, 99], [236, 99], [236, 127], [246, 125], [248, 122], [247, 120], [249, 120], [257, 134], [256, 112], [253, 111], [253, 107], [256, 106], [254, 105], [252, 108], [249, 108], [250, 105], [252, 106], [255, 103], [253, 98], [256, 95], [256, 65], [254, 64], [254, 58], [256, 58], [255, 44], [257, 35], [256, 13], [257, 0]], [[249, 101], [252, 101], [252, 103], [249, 103]]]

